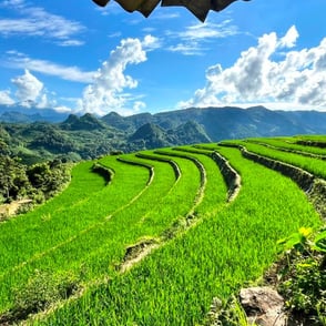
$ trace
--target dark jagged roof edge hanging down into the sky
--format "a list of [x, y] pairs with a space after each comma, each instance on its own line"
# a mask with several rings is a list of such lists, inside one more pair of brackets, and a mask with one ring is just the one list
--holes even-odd
[[[108, 4], [110, 0], [93, 0], [101, 7]], [[140, 11], [149, 17], [155, 7], [161, 2], [162, 7], [181, 6], [187, 8], [197, 19], [205, 21], [208, 11], [221, 11], [236, 0], [115, 0], [124, 10]], [[249, 1], [249, 0], [243, 0]]]

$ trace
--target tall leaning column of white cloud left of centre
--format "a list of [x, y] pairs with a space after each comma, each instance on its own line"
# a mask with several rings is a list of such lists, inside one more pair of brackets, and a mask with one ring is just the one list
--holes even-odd
[[98, 70], [93, 82], [84, 89], [83, 96], [79, 101], [79, 110], [103, 115], [110, 111], [130, 114], [143, 108], [142, 102], [125, 93], [126, 89], [135, 89], [137, 81], [124, 72], [128, 65], [139, 64], [146, 60], [144, 48], [151, 48], [154, 41], [155, 39], [150, 37], [145, 37], [143, 41], [140, 39], [122, 40]]

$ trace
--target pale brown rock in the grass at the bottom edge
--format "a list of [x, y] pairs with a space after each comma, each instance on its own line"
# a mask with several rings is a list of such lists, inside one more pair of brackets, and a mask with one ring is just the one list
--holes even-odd
[[271, 287], [249, 287], [240, 292], [240, 303], [243, 306], [248, 323], [261, 326], [285, 326], [283, 297]]

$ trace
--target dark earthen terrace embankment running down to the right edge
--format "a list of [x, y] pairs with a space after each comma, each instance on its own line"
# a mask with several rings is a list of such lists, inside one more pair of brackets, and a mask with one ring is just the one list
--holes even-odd
[[315, 177], [313, 174], [297, 166], [268, 159], [240, 146], [242, 155], [266, 167], [273, 169], [285, 176], [291, 177], [308, 196], [316, 211], [326, 220], [326, 181]]

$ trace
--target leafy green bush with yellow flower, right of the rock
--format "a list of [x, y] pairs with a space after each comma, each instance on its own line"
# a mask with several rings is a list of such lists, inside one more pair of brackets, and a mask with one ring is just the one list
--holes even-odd
[[326, 230], [302, 227], [279, 244], [286, 249], [279, 292], [293, 315], [326, 325]]

